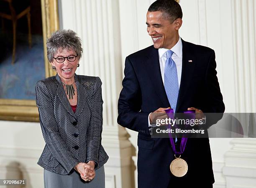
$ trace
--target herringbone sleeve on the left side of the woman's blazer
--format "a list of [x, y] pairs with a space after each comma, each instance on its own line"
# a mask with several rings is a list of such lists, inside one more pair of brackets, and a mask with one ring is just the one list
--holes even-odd
[[79, 162], [72, 156], [71, 151], [59, 134], [49, 92], [42, 81], [38, 81], [36, 84], [36, 105], [46, 145], [54, 158], [70, 173]]

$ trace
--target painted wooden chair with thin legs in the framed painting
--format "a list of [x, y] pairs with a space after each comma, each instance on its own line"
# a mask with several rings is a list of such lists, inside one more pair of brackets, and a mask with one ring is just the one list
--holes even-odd
[[0, 0], [0, 17], [2, 18], [2, 26], [4, 27], [3, 18], [12, 20], [13, 22], [13, 57], [12, 64], [15, 62], [16, 51], [16, 26], [17, 20], [27, 16], [28, 20], [28, 44], [31, 48], [31, 23], [30, 23], [30, 5], [28, 0]]

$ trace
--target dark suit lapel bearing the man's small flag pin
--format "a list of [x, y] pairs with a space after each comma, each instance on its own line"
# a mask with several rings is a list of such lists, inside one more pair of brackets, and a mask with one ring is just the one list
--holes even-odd
[[189, 48], [188, 43], [182, 40], [182, 75], [179, 86], [176, 112], [179, 112], [179, 107], [181, 106], [182, 101], [185, 100], [184, 96], [187, 93], [189, 84], [191, 84], [195, 69], [196, 58], [191, 50], [192, 49]]

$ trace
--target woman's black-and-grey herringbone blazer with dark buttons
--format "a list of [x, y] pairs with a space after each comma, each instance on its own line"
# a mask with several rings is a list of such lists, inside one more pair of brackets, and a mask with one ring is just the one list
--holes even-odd
[[73, 112], [58, 76], [36, 83], [36, 105], [46, 145], [38, 165], [61, 175], [77, 163], [95, 161], [95, 169], [108, 160], [101, 145], [102, 95], [99, 77], [75, 74], [77, 109]]

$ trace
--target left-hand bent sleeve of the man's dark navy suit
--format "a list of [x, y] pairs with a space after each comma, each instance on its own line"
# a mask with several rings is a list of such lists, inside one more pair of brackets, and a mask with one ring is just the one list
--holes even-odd
[[123, 89], [118, 99], [118, 124], [149, 135], [149, 112], [141, 112], [141, 87], [129, 57], [125, 59], [124, 74]]

